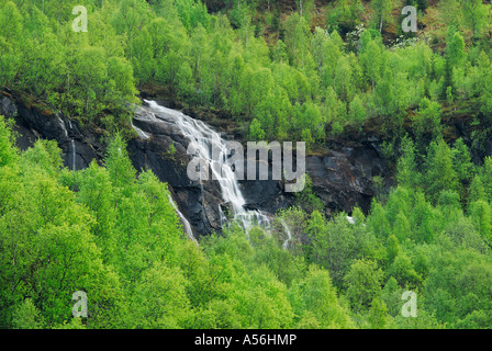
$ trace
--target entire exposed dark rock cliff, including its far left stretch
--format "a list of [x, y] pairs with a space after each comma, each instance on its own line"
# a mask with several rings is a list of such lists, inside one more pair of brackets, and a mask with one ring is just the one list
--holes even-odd
[[[187, 138], [172, 123], [157, 123], [147, 118], [146, 113], [145, 109], [138, 109], [133, 122], [145, 135], [130, 140], [127, 145], [134, 167], [138, 171], [150, 169], [169, 184], [179, 210], [190, 222], [195, 235], [220, 231], [220, 208], [227, 212], [228, 204], [223, 201], [217, 181], [191, 181], [187, 176], [191, 160], [191, 156], [187, 155]], [[104, 147], [98, 141], [99, 136], [81, 128], [76, 121], [59, 114], [44, 113], [38, 105], [30, 106], [9, 92], [0, 95], [0, 114], [16, 120], [21, 149], [32, 146], [37, 138], [46, 138], [58, 143], [64, 152], [65, 166], [70, 169], [80, 170], [93, 159], [99, 162], [102, 160]], [[351, 213], [355, 205], [367, 212], [373, 195], [372, 177], [389, 179], [390, 176], [385, 162], [371, 144], [339, 146], [322, 156], [308, 156], [306, 172], [314, 192], [324, 203], [327, 216], [337, 211]], [[273, 214], [294, 203], [293, 193], [284, 192], [283, 182], [271, 178], [266, 181], [239, 181], [239, 188], [248, 210]]]

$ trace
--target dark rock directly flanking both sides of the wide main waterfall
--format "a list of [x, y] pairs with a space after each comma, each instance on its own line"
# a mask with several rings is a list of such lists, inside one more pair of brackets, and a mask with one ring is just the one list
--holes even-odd
[[[133, 163], [137, 169], [152, 169], [171, 185], [181, 212], [199, 233], [220, 229], [219, 208], [226, 208], [227, 204], [222, 200], [219, 183], [211, 180], [201, 185], [190, 181], [187, 176], [187, 165], [191, 159], [186, 152], [187, 138], [175, 124], [164, 120], [157, 122], [147, 117], [146, 113], [146, 110], [139, 110], [134, 124], [150, 137], [130, 143]], [[227, 138], [227, 135], [223, 134], [223, 137]], [[172, 156], [168, 154], [171, 143], [176, 148]], [[321, 156], [308, 156], [306, 172], [327, 216], [339, 211], [350, 214], [356, 205], [365, 212], [369, 211], [373, 196], [372, 178], [376, 176], [387, 179], [390, 185], [390, 170], [371, 143], [354, 147], [336, 146]], [[242, 180], [239, 188], [247, 210], [273, 214], [295, 201], [293, 193], [284, 192], [282, 181], [272, 180], [271, 160], [269, 180]]]

